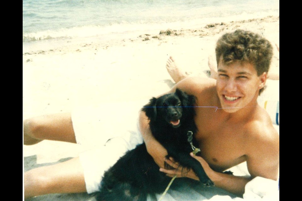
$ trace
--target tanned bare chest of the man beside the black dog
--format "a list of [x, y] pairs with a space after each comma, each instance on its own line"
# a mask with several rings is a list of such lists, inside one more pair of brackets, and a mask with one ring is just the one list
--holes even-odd
[[245, 161], [242, 125], [221, 122], [213, 114], [196, 118], [196, 139], [204, 160], [216, 171], [223, 171]]

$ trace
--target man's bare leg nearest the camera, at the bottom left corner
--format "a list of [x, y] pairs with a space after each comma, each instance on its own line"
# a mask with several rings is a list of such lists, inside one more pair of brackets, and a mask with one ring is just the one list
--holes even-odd
[[24, 173], [24, 197], [49, 193], [86, 192], [84, 171], [78, 157]]

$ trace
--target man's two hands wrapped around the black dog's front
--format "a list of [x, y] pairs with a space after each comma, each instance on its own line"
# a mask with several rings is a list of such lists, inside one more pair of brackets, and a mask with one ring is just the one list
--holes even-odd
[[[190, 155], [200, 162], [200, 164], [204, 168], [205, 173], [211, 179], [210, 175], [214, 173], [214, 171], [210, 168], [209, 164], [202, 157], [196, 156], [192, 152], [190, 153]], [[159, 171], [166, 173], [167, 176], [174, 177], [176, 175], [176, 177], [188, 177], [199, 181], [199, 178], [196, 176], [192, 169], [188, 170], [187, 168], [182, 167], [179, 163], [175, 162], [173, 158], [165, 158], [165, 162], [174, 168], [171, 170], [167, 170], [164, 168], [159, 169]]]

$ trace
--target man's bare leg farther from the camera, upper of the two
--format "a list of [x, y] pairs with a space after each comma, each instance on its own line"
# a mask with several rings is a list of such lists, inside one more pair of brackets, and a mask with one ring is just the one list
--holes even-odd
[[43, 115], [26, 119], [24, 144], [31, 145], [44, 139], [76, 143], [70, 113]]

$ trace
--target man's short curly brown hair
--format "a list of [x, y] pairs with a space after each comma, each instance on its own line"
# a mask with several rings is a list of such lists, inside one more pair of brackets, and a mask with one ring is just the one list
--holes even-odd
[[[236, 30], [222, 35], [216, 43], [217, 65], [222, 62], [230, 64], [234, 61], [249, 62], [254, 65], [257, 75], [268, 72], [273, 55], [271, 43], [259, 34], [251, 31]], [[259, 94], [264, 90], [260, 89]]]

